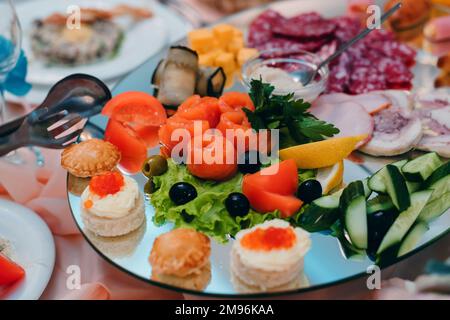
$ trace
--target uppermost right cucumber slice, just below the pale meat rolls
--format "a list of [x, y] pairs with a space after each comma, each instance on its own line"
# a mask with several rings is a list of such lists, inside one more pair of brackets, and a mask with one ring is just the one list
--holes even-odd
[[406, 163], [402, 173], [408, 181], [423, 182], [441, 165], [439, 156], [430, 152]]

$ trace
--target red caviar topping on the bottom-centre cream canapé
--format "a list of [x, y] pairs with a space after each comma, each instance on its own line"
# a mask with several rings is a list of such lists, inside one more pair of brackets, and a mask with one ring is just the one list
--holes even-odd
[[295, 244], [296, 239], [292, 228], [258, 228], [244, 235], [241, 245], [247, 249], [264, 251], [289, 249]]

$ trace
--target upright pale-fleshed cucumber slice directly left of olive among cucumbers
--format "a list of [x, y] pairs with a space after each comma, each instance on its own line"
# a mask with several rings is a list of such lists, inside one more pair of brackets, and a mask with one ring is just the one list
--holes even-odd
[[339, 207], [344, 213], [343, 224], [350, 241], [358, 249], [367, 249], [366, 196], [361, 181], [354, 181], [344, 189]]

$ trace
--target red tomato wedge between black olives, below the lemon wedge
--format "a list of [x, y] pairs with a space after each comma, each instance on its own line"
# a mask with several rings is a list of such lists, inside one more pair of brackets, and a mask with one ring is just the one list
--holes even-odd
[[284, 160], [254, 174], [248, 174], [244, 180], [268, 192], [293, 195], [298, 188], [297, 165], [292, 159]]

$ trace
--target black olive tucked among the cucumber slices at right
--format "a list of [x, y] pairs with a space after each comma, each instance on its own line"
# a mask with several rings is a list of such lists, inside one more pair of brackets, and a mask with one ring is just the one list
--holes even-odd
[[378, 211], [367, 216], [368, 252], [376, 252], [384, 236], [394, 223], [394, 211]]

